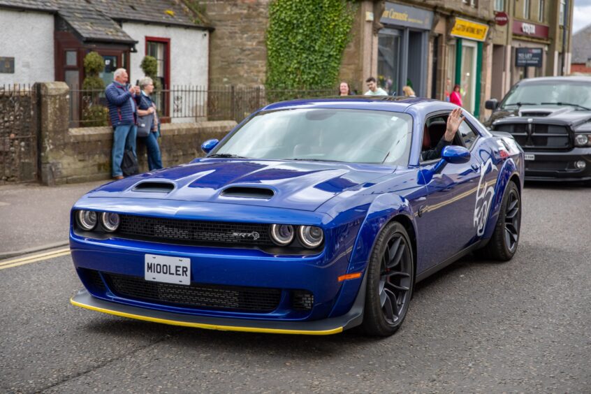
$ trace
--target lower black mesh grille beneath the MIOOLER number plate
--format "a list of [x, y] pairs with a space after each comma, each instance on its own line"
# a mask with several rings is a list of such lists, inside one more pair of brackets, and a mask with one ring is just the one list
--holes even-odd
[[143, 278], [105, 274], [107, 284], [117, 296], [158, 302], [176, 307], [231, 309], [247, 312], [271, 312], [279, 306], [281, 289], [215, 286], [209, 284], [168, 284]]

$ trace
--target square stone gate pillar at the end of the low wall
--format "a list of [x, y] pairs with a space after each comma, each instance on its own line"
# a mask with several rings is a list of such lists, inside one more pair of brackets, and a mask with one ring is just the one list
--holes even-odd
[[55, 152], [64, 145], [68, 136], [69, 89], [66, 82], [41, 82], [39, 109], [39, 161], [41, 183], [55, 184], [59, 177], [60, 163], [55, 160]]

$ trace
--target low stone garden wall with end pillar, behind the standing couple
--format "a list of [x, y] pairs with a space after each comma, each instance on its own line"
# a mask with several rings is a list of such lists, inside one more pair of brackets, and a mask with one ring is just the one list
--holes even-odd
[[[64, 184], [108, 180], [111, 177], [111, 127], [68, 129], [68, 86], [41, 84], [41, 182]], [[159, 144], [166, 167], [203, 156], [200, 145], [221, 140], [236, 122], [163, 124]], [[147, 171], [145, 146], [138, 143], [140, 171]]]

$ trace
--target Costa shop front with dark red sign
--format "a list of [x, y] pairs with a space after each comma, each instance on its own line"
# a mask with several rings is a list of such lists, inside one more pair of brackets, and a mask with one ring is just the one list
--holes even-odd
[[548, 48], [548, 26], [530, 22], [513, 21], [513, 70], [511, 82], [514, 84], [523, 78], [545, 75], [546, 48]]

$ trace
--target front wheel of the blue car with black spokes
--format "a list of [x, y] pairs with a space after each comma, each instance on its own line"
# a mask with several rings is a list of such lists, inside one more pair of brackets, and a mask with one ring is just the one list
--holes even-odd
[[387, 337], [402, 326], [414, 289], [414, 264], [409, 235], [393, 221], [375, 242], [367, 268], [363, 330]]

